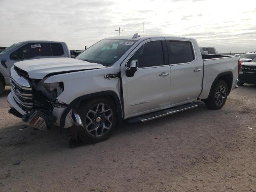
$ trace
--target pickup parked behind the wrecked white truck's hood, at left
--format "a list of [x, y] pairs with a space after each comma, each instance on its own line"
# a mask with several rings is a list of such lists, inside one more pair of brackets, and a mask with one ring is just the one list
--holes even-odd
[[10, 85], [10, 68], [15, 62], [51, 57], [70, 57], [64, 42], [24, 41], [15, 43], [0, 52], [0, 95]]

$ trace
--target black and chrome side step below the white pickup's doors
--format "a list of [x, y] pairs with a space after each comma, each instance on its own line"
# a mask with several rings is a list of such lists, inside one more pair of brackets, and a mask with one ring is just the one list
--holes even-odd
[[140, 117], [132, 117], [130, 119], [127, 119], [126, 122], [128, 123], [142, 123], [142, 122], [146, 122], [152, 119], [156, 119], [159, 117], [163, 117], [166, 115], [170, 115], [170, 114], [174, 114], [174, 113], [178, 113], [184, 110], [188, 110], [188, 109], [192, 109], [195, 107], [198, 107], [200, 105], [204, 104], [204, 102], [194, 102], [194, 103], [188, 103], [188, 104], [184, 104], [184, 105], [180, 105], [180, 106], [176, 106], [173, 108], [168, 108], [162, 111], [158, 111], [158, 112], [154, 112], [154, 113], [150, 113], [147, 115], [143, 115]]

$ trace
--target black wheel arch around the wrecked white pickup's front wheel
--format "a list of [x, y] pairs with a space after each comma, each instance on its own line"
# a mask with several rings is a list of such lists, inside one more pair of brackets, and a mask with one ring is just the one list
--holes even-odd
[[82, 102], [84, 102], [86, 100], [94, 99], [94, 98], [99, 98], [99, 97], [106, 97], [116, 105], [118, 122], [120, 122], [123, 119], [123, 116], [124, 116], [123, 111], [122, 111], [122, 105], [121, 105], [120, 98], [118, 97], [118, 95], [114, 91], [102, 91], [102, 92], [86, 94], [86, 95], [80, 96], [80, 97], [76, 98], [75, 100], [73, 100], [68, 105], [68, 107], [64, 110], [64, 112], [62, 113], [62, 115], [60, 117], [60, 127], [65, 126], [66, 116], [68, 115], [68, 112], [70, 112], [70, 110], [72, 108], [77, 109]]

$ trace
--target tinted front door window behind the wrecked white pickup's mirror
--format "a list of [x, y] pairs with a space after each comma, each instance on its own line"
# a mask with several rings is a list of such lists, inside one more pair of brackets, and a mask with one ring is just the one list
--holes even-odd
[[161, 41], [151, 41], [142, 45], [130, 58], [127, 67], [132, 60], [138, 60], [138, 67], [153, 67], [164, 65], [164, 55]]

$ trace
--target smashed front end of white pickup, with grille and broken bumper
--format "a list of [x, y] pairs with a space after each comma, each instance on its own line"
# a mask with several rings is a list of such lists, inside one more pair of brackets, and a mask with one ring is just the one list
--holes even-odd
[[[47, 130], [51, 126], [60, 125], [60, 116], [67, 108], [67, 104], [57, 97], [64, 91], [63, 82], [44, 83], [46, 78], [30, 79], [25, 71], [12, 68], [10, 75], [11, 90], [8, 102], [11, 105], [10, 114], [22, 118], [22, 121], [40, 130]], [[71, 109], [66, 117], [65, 128], [82, 125], [76, 110]]]

